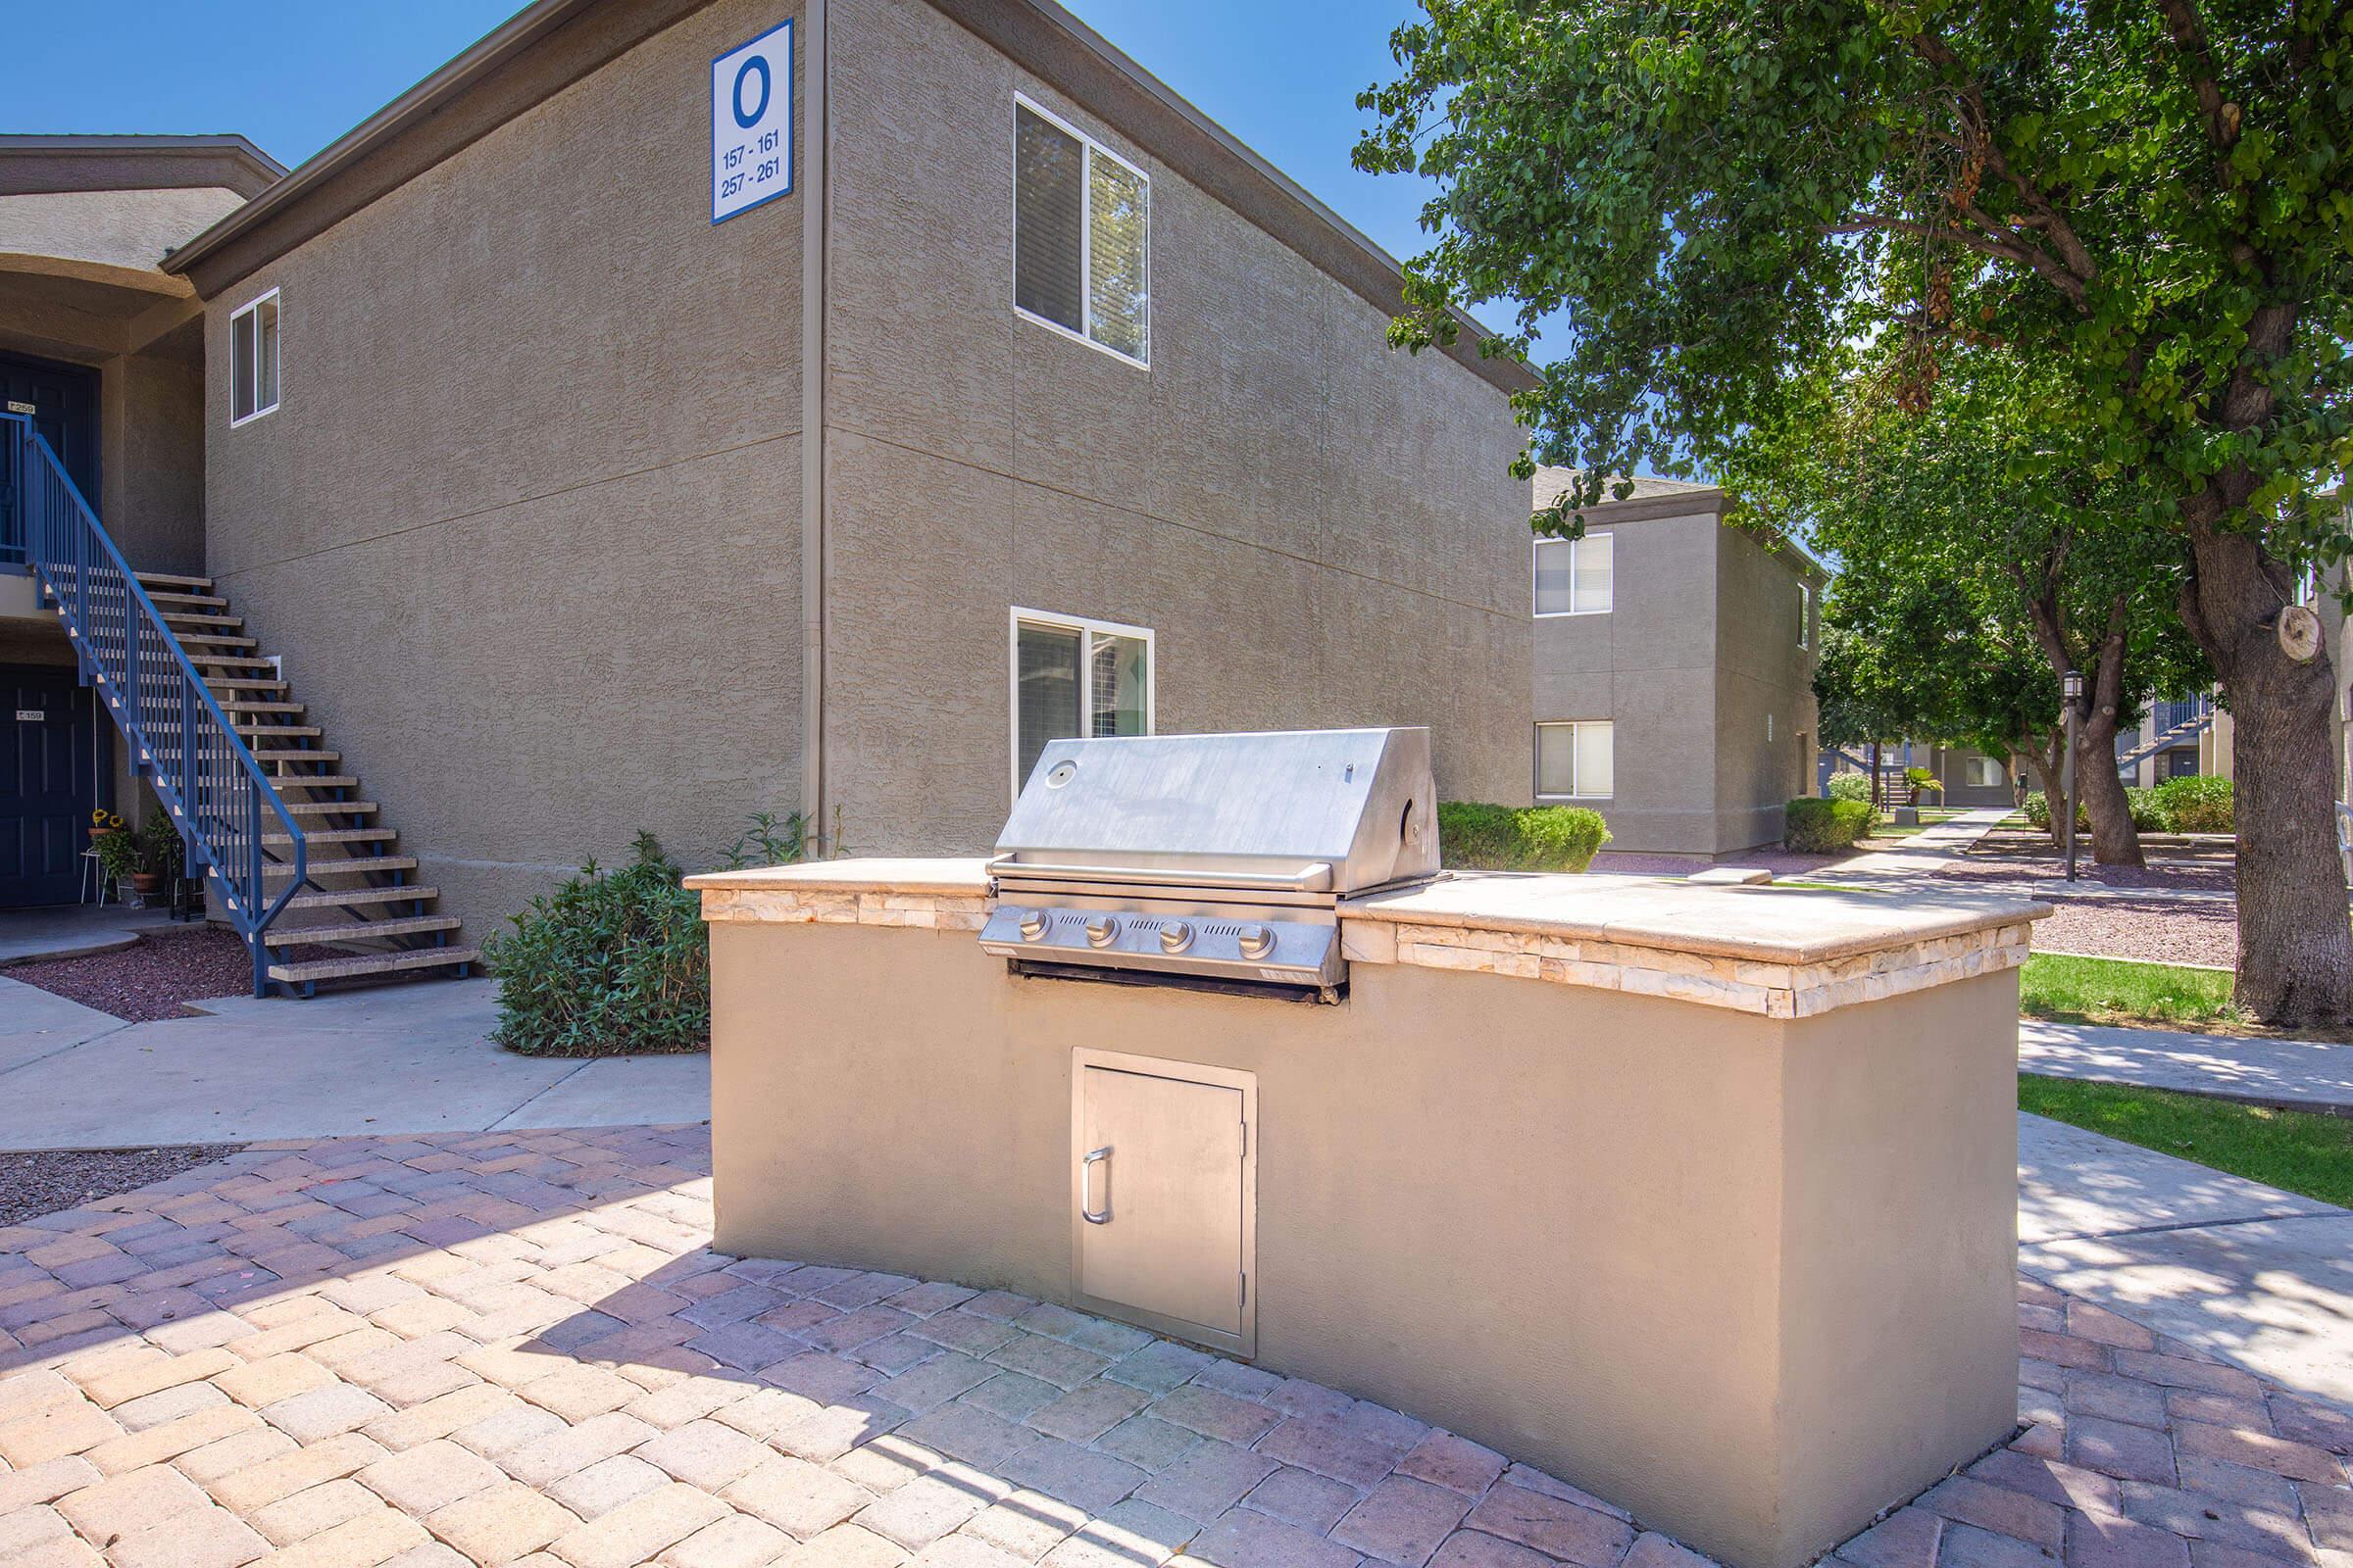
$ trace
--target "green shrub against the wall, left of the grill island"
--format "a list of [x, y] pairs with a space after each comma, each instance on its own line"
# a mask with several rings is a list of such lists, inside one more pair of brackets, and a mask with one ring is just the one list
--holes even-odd
[[499, 976], [499, 1027], [522, 1056], [626, 1056], [711, 1048], [711, 943], [701, 900], [654, 835], [635, 860], [595, 860], [534, 898], [515, 929], [482, 943]]

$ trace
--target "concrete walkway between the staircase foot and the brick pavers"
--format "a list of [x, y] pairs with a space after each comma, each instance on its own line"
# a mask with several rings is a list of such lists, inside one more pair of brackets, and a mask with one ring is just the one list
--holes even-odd
[[701, 1121], [711, 1058], [513, 1056], [494, 980], [122, 1023], [0, 973], [0, 1150]]

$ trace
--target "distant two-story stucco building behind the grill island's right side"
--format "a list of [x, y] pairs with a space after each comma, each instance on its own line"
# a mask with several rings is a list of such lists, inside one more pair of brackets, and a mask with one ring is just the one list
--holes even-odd
[[[1539, 470], [1537, 505], [1565, 484]], [[1725, 508], [1715, 487], [1642, 477], [1586, 512], [1584, 538], [1532, 545], [1532, 792], [1600, 811], [1619, 853], [1772, 844], [1814, 792], [1824, 574]]]

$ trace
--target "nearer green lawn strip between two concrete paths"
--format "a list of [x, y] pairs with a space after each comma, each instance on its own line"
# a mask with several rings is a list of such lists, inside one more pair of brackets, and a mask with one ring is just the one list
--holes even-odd
[[2024, 1072], [2019, 1110], [2325, 1204], [2353, 1206], [2353, 1117]]

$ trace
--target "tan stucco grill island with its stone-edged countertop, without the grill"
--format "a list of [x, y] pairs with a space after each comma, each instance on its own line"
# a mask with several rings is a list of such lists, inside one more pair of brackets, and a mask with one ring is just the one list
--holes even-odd
[[1447, 877], [1344, 903], [1315, 1006], [1014, 976], [979, 860], [694, 886], [725, 1251], [1125, 1316], [1739, 1568], [2017, 1422], [2040, 905]]

